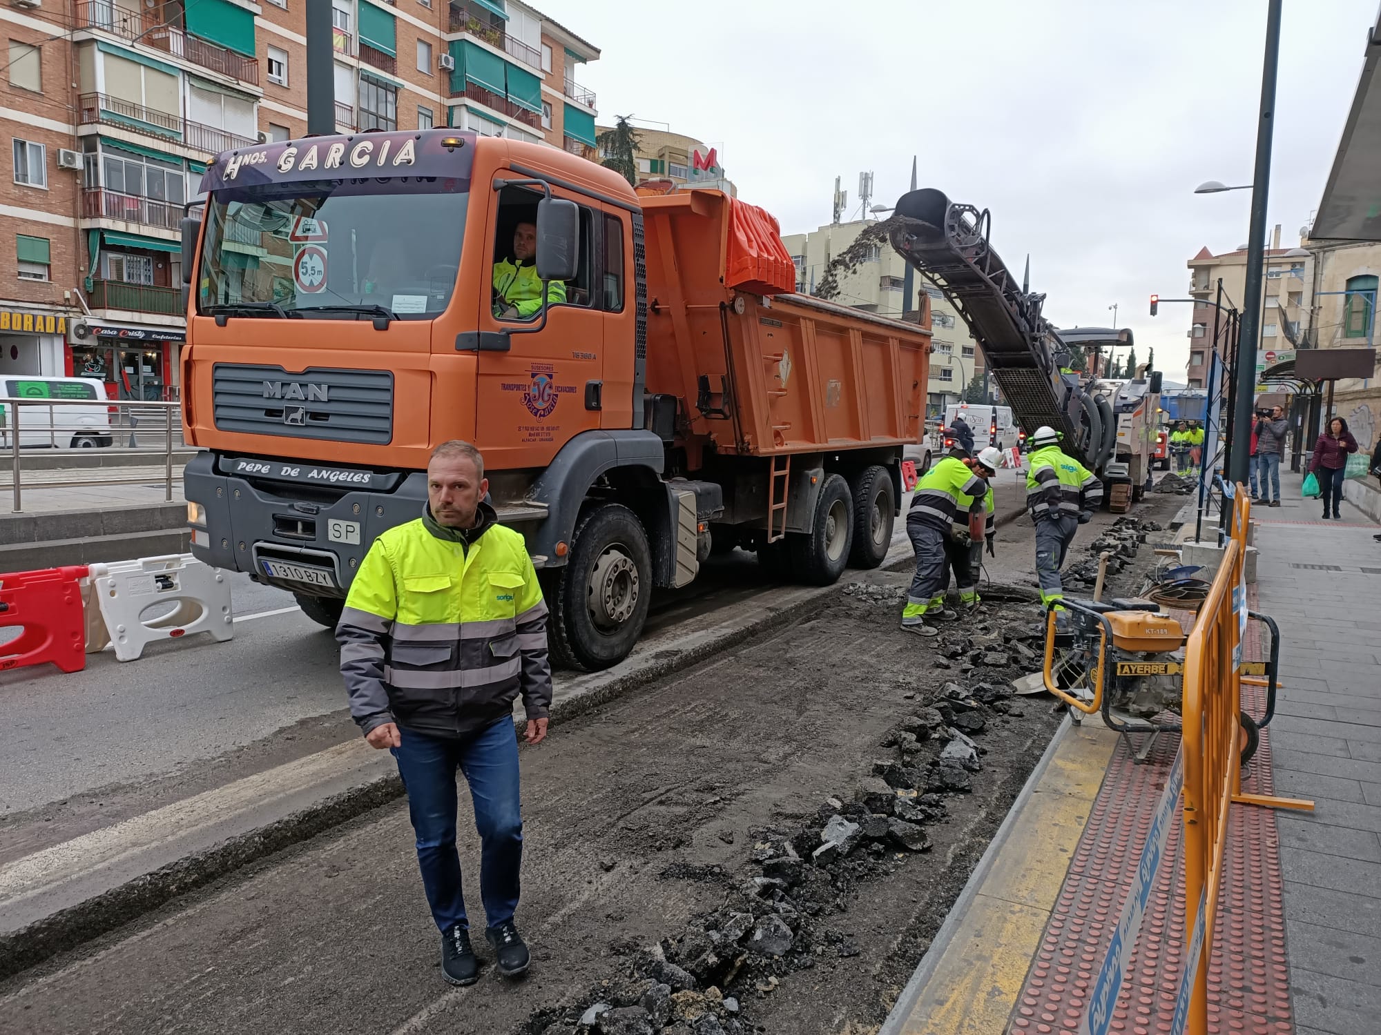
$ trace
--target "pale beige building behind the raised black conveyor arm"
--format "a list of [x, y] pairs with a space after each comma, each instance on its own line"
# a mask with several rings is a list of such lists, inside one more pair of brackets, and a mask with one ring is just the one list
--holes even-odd
[[[795, 262], [797, 291], [812, 294], [824, 275], [830, 259], [848, 248], [860, 233], [874, 226], [873, 219], [820, 226], [809, 233], [783, 235], [791, 259]], [[903, 286], [906, 262], [896, 250], [876, 244], [852, 273], [840, 279], [836, 302], [881, 316], [900, 317], [903, 313]], [[975, 375], [983, 374], [983, 355], [968, 331], [968, 324], [945, 298], [945, 293], [914, 277], [911, 304], [906, 310], [921, 308], [921, 293], [931, 299], [931, 375], [927, 385], [927, 415], [936, 417], [949, 403], [958, 402]]]

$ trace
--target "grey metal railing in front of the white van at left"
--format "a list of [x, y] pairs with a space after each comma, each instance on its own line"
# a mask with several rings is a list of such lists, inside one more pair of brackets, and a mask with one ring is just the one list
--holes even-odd
[[[173, 501], [173, 453], [182, 448], [182, 404], [116, 399], [0, 399], [0, 448], [10, 454], [11, 511], [23, 511], [25, 451], [110, 450], [123, 455], [148, 455], [162, 475], [119, 475], [119, 468], [101, 468], [99, 476], [30, 480], [30, 489], [76, 489], [83, 486], [151, 484], [163, 482], [163, 498]], [[144, 444], [139, 439], [144, 439]], [[30, 455], [35, 455], [30, 453]], [[0, 483], [0, 489], [3, 489]]]

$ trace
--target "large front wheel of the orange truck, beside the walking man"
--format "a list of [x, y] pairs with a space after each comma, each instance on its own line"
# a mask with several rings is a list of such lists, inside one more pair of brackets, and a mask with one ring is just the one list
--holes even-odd
[[620, 504], [586, 511], [550, 589], [547, 639], [558, 665], [595, 672], [628, 657], [652, 600], [652, 551], [638, 516]]

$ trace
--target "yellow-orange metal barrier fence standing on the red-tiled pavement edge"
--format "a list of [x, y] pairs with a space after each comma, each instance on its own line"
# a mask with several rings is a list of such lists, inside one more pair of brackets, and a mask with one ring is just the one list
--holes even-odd
[[1242, 793], [1242, 644], [1247, 629], [1250, 516], [1246, 486], [1239, 484], [1222, 563], [1185, 644], [1181, 749], [1185, 760], [1185, 934], [1189, 952], [1171, 1029], [1192, 1035], [1206, 1035], [1208, 1029], [1208, 962], [1213, 958], [1229, 809], [1235, 803], [1313, 809], [1313, 802]]

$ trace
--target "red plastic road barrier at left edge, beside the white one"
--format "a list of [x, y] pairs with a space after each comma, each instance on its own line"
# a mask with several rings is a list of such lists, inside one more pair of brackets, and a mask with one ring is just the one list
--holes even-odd
[[64, 672], [86, 668], [80, 566], [0, 575], [0, 627], [22, 632], [0, 646], [0, 671], [51, 661]]

